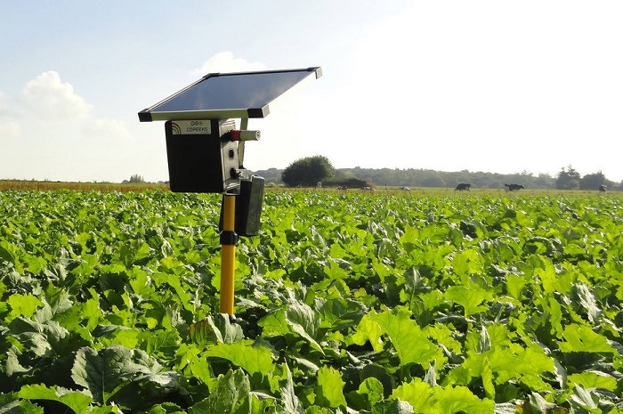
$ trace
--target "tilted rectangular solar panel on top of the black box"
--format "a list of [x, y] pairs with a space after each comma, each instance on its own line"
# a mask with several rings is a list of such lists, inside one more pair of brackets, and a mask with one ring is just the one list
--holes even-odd
[[269, 104], [320, 67], [210, 73], [139, 112], [141, 122], [183, 119], [265, 118]]

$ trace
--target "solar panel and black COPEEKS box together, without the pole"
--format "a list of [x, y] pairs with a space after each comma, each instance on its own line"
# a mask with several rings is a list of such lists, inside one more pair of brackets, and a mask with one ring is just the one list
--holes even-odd
[[265, 118], [272, 101], [321, 75], [320, 67], [210, 73], [139, 112], [141, 122], [166, 121], [171, 191], [238, 192], [249, 179], [245, 142], [260, 139], [259, 131], [247, 131], [248, 119]]

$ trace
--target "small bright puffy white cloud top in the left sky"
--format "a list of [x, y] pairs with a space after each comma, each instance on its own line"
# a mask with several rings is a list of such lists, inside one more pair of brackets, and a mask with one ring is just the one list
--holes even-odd
[[92, 106], [74, 93], [74, 87], [61, 82], [61, 76], [47, 71], [29, 81], [23, 89], [23, 100], [35, 116], [45, 119], [79, 119], [91, 114]]

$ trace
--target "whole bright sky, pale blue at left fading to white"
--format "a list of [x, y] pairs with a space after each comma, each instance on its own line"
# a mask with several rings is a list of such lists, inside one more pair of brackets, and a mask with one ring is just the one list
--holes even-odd
[[[0, 179], [168, 179], [137, 113], [208, 72], [320, 66], [245, 166], [623, 180], [623, 2], [0, 0]], [[294, 92], [294, 91], [293, 91]]]

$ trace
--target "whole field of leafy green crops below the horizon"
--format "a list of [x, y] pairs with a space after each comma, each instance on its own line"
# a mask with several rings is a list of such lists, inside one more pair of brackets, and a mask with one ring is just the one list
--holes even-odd
[[0, 192], [0, 413], [623, 412], [623, 200]]

